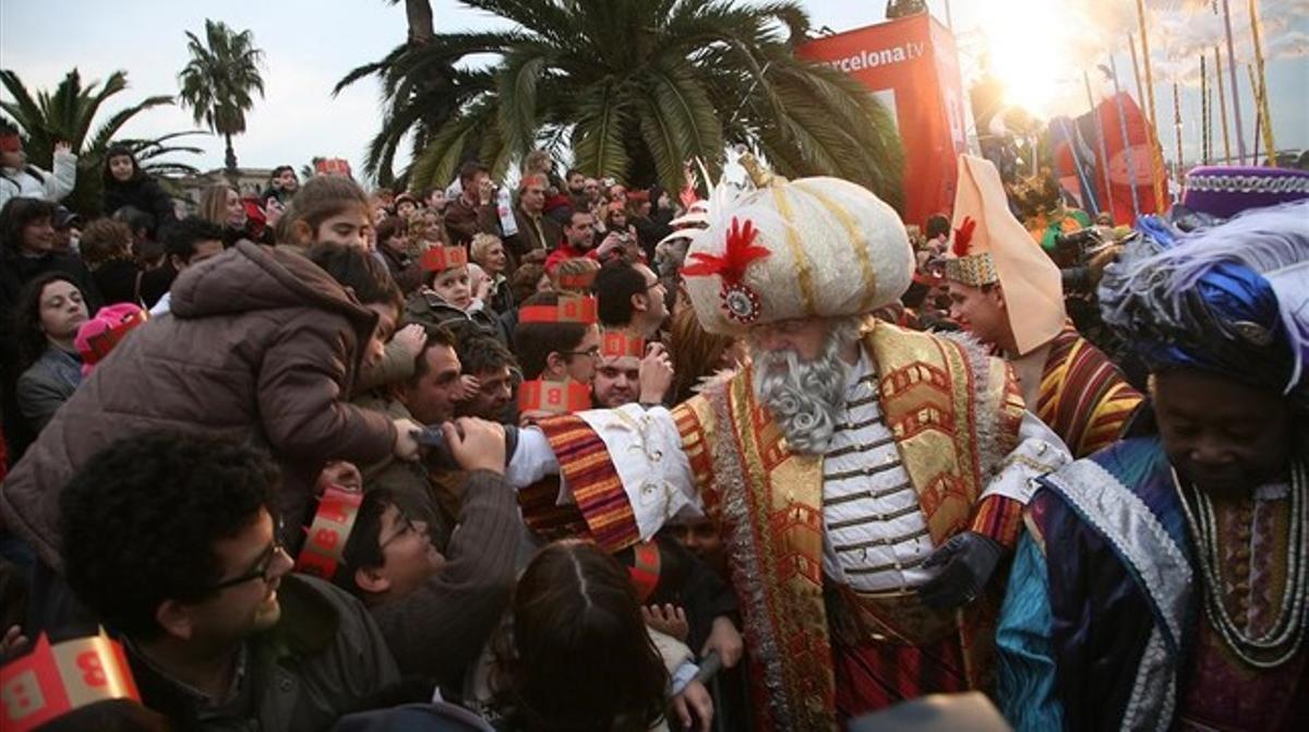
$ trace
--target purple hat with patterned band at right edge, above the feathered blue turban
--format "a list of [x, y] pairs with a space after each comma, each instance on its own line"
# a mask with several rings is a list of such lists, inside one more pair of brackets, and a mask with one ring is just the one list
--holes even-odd
[[1309, 198], [1309, 170], [1289, 168], [1192, 168], [1182, 206], [1219, 219]]

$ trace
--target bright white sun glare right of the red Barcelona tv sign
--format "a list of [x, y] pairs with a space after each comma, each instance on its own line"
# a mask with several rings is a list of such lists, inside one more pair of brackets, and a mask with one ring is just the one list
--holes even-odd
[[1047, 118], [1068, 73], [1067, 27], [1054, 0], [987, 3], [980, 21], [1005, 102]]

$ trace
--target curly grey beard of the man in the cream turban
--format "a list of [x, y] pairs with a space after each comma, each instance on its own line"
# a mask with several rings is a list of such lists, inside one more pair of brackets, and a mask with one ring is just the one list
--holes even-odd
[[844, 344], [859, 339], [857, 322], [833, 327], [822, 354], [805, 361], [792, 350], [762, 351], [751, 344], [754, 395], [768, 407], [792, 453], [823, 454], [846, 411]]

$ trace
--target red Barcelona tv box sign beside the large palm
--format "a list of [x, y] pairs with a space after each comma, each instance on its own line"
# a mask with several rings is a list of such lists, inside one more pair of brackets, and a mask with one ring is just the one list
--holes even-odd
[[844, 71], [890, 111], [905, 145], [905, 223], [949, 216], [967, 152], [954, 37], [927, 13], [812, 41], [800, 55]]

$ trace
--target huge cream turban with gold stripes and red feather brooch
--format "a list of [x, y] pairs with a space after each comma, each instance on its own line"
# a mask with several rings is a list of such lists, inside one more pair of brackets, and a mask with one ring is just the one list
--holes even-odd
[[908, 289], [914, 253], [895, 210], [850, 181], [787, 181], [742, 164], [758, 189], [717, 186], [682, 267], [704, 330], [861, 316]]

